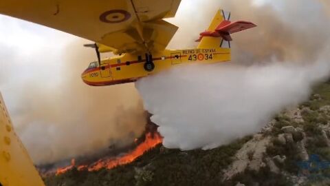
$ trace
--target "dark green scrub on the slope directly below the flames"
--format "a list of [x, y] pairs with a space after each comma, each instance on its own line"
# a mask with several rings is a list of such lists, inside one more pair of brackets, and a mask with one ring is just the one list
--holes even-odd
[[45, 178], [49, 186], [71, 185], [219, 185], [225, 169], [248, 136], [217, 149], [181, 152], [158, 145], [129, 165], [98, 172], [76, 169]]

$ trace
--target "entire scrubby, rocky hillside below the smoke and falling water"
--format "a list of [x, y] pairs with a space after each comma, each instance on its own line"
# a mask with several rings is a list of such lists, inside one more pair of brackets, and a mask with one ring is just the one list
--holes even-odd
[[217, 149], [158, 145], [129, 165], [71, 171], [47, 185], [330, 185], [330, 85], [274, 117], [259, 134]]

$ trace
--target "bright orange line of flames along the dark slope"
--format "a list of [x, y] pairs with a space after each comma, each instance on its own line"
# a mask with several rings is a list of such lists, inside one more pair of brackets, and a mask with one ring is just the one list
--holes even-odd
[[[80, 165], [77, 167], [78, 170], [88, 169], [89, 172], [98, 171], [102, 168], [112, 169], [114, 167], [117, 167], [118, 165], [125, 165], [127, 163], [133, 162], [136, 158], [142, 156], [144, 152], [148, 151], [149, 149], [152, 149], [159, 143], [162, 143], [162, 136], [158, 134], [157, 132], [154, 134], [147, 133], [146, 134], [146, 140], [138, 145], [135, 149], [133, 149], [132, 152], [129, 152], [128, 154], [124, 156], [120, 156], [118, 158], [107, 158], [107, 159], [100, 159], [96, 163], [94, 163], [91, 166], [88, 165]], [[73, 169], [76, 167], [75, 160], [72, 159], [72, 165], [69, 165], [68, 167], [57, 169], [56, 175], [63, 174], [70, 169]]]

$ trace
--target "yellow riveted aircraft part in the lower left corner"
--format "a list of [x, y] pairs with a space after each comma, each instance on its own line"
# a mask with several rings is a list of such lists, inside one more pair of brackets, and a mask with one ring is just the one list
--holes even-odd
[[0, 93], [0, 185], [43, 186], [28, 152], [14, 132]]

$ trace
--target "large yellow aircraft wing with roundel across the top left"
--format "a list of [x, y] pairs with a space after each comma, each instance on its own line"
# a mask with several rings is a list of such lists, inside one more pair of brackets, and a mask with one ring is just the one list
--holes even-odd
[[0, 14], [106, 45], [115, 53], [164, 50], [181, 0], [2, 0]]

